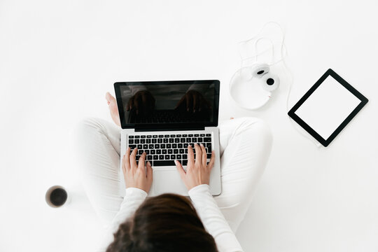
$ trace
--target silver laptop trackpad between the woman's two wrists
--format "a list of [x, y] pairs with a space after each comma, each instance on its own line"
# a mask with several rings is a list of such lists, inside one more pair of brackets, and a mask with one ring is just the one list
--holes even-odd
[[155, 195], [162, 193], [177, 193], [179, 195], [188, 195], [180, 174], [176, 170], [154, 170], [153, 187]]

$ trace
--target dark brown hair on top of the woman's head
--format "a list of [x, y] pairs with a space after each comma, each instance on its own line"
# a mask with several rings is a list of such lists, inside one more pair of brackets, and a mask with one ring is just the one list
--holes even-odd
[[122, 223], [106, 252], [216, 252], [186, 197], [164, 194], [147, 198], [134, 216]]

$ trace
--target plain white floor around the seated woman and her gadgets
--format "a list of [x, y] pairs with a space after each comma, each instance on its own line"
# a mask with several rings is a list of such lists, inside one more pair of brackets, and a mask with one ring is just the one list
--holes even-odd
[[[0, 1], [0, 251], [91, 251], [99, 223], [78, 186], [70, 131], [108, 118], [119, 80], [221, 80], [221, 120], [258, 116], [274, 146], [237, 237], [245, 251], [378, 250], [377, 1]], [[290, 107], [332, 68], [370, 102], [327, 148], [286, 115], [286, 78], [260, 111], [228, 81], [237, 42], [265, 22], [286, 29]], [[281, 66], [274, 71], [279, 73]], [[73, 195], [50, 209], [45, 190]], [[59, 242], [61, 237], [64, 242]]]

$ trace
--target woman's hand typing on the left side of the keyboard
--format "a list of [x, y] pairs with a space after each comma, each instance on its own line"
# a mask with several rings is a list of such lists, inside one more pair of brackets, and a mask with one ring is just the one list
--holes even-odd
[[146, 153], [141, 155], [137, 164], [135, 160], [137, 152], [138, 149], [134, 148], [130, 155], [130, 147], [128, 147], [126, 154], [123, 155], [122, 169], [126, 188], [139, 188], [148, 193], [153, 181], [153, 169], [150, 162], [147, 162], [146, 168], [144, 167]]

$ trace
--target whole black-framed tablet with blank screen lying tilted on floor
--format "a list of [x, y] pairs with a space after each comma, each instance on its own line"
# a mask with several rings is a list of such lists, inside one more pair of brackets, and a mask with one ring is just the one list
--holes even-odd
[[288, 116], [323, 146], [328, 146], [367, 102], [363, 94], [328, 69], [290, 109]]

